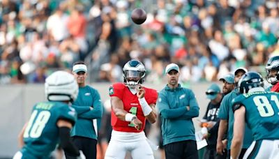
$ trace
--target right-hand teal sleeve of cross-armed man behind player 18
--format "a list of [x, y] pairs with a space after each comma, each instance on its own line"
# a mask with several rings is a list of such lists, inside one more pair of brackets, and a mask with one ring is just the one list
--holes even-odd
[[83, 119], [100, 119], [103, 116], [102, 103], [98, 91], [93, 92], [93, 109], [80, 114], [78, 117]]

